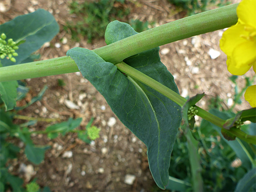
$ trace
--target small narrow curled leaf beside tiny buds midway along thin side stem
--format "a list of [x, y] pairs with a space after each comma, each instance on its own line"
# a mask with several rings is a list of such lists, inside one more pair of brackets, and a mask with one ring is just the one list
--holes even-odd
[[188, 110], [191, 106], [194, 106], [195, 103], [197, 103], [201, 98], [204, 97], [204, 93], [203, 94], [197, 94], [194, 97], [189, 98], [186, 103], [183, 105], [182, 107], [182, 118], [184, 120], [185, 126], [189, 127], [190, 129], [194, 129], [194, 117], [192, 117], [191, 119], [188, 119]]

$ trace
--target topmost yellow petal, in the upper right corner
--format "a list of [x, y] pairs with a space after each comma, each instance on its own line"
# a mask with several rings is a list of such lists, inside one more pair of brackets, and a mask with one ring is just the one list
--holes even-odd
[[242, 24], [256, 28], [256, 0], [242, 0], [237, 6], [237, 17]]

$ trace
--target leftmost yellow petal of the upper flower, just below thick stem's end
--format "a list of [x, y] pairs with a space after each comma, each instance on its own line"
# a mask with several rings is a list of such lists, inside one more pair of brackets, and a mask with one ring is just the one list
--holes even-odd
[[244, 30], [244, 25], [237, 23], [223, 33], [219, 47], [227, 56], [231, 56], [235, 47], [247, 41], [245, 38], [241, 37], [241, 35], [248, 36], [248, 34], [249, 33]]

